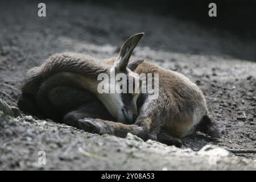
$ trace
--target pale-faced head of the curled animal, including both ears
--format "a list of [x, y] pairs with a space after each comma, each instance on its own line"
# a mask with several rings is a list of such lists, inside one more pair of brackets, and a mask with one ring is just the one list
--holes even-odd
[[141, 89], [141, 78], [133, 71], [144, 61], [129, 60], [143, 35], [139, 33], [131, 36], [121, 47], [119, 56], [109, 71], [110, 93], [103, 98], [110, 114], [118, 121], [127, 124], [134, 123], [137, 118], [137, 98]]

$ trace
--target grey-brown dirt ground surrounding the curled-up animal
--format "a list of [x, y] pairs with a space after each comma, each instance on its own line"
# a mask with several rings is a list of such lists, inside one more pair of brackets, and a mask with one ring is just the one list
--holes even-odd
[[[48, 2], [47, 17], [35, 1], [1, 1], [0, 98], [15, 106], [26, 71], [53, 53], [75, 51], [117, 56], [135, 32], [145, 36], [134, 55], [183, 73], [203, 90], [220, 139], [183, 138], [183, 147], [97, 135], [0, 114], [0, 169], [256, 169], [255, 154], [213, 158], [207, 144], [256, 150], [256, 43], [224, 30], [200, 27], [172, 16], [113, 9], [89, 3]], [[219, 151], [220, 148], [217, 148]], [[46, 165], [38, 164], [46, 152]], [[198, 152], [199, 151], [199, 152]]]

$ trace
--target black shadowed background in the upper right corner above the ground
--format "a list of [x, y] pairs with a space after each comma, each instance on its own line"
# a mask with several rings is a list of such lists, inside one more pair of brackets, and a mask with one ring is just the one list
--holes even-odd
[[[114, 6], [118, 9], [133, 9], [136, 11], [153, 11], [160, 15], [173, 15], [178, 19], [193, 21], [203, 26], [222, 28], [238, 36], [256, 39], [256, 1], [253, 0], [76, 0], [88, 1], [104, 6]], [[216, 3], [217, 17], [209, 17], [209, 3]]]

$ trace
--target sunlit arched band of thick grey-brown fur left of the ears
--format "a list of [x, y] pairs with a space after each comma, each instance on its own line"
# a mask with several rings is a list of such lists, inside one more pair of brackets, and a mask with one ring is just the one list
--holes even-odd
[[97, 73], [105, 72], [107, 65], [102, 61], [81, 53], [56, 53], [40, 67], [30, 69], [24, 80], [22, 93], [35, 94], [47, 77], [60, 72], [79, 73], [97, 79]]

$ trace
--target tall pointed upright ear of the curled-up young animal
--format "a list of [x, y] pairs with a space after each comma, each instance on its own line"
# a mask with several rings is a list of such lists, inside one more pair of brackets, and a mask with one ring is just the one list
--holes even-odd
[[126, 40], [126, 42], [121, 47], [117, 61], [115, 61], [114, 63], [114, 68], [116, 70], [122, 71], [127, 67], [128, 61], [131, 57], [131, 53], [139, 43], [139, 40], [142, 39], [143, 35], [144, 33], [134, 34]]

